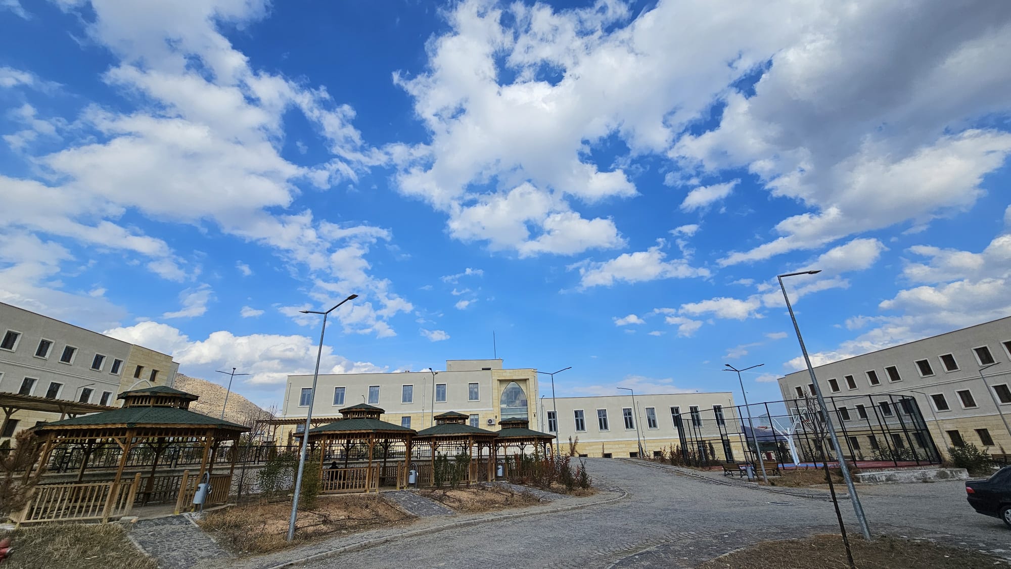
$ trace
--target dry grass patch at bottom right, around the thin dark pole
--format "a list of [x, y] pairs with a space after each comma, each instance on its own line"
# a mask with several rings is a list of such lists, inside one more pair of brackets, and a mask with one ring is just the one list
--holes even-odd
[[[850, 537], [858, 569], [968, 569], [1006, 566], [996, 557], [929, 542], [879, 538], [864, 542]], [[846, 569], [846, 553], [839, 536], [764, 542], [746, 550], [707, 561], [697, 569], [784, 569], [817, 567]]]

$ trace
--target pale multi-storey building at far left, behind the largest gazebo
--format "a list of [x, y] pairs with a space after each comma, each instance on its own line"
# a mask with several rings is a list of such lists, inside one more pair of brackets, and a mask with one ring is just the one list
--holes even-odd
[[[166, 354], [0, 302], [0, 391], [119, 406], [121, 391], [171, 386], [178, 367]], [[0, 440], [59, 418], [16, 411]]]

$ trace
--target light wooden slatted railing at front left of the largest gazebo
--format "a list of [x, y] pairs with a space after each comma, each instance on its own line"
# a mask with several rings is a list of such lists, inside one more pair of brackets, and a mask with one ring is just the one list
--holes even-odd
[[124, 482], [45, 484], [35, 486], [20, 512], [11, 515], [18, 525], [37, 521], [84, 521], [129, 515], [141, 475]]

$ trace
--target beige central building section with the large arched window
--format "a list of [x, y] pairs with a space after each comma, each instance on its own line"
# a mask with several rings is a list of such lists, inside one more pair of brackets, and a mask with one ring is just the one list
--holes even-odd
[[[502, 407], [507, 390], [511, 395], [518, 393], [515, 387], [510, 389], [513, 383], [527, 400], [522, 411]], [[305, 416], [311, 385], [311, 375], [288, 376], [282, 416]], [[534, 369], [503, 369], [501, 360], [448, 360], [446, 369], [434, 377], [430, 371], [319, 375], [312, 414], [339, 416], [341, 407], [369, 403], [385, 410], [382, 420], [407, 424], [416, 431], [431, 426], [432, 417], [446, 411], [474, 415], [478, 426], [496, 431], [503, 412], [524, 414], [532, 423], [536, 422], [537, 395]], [[510, 400], [516, 402], [522, 398]], [[294, 429], [294, 425], [279, 429], [278, 442], [287, 442]]]

